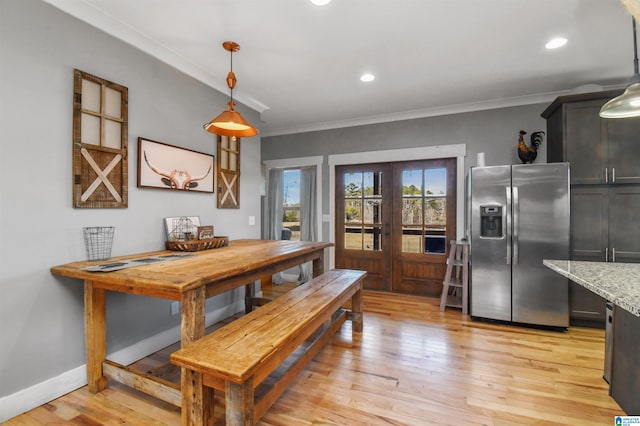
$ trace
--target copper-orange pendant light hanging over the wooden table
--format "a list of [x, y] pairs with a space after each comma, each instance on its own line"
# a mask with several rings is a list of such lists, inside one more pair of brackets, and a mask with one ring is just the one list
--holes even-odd
[[227, 74], [227, 85], [231, 90], [231, 100], [229, 101], [229, 109], [205, 124], [203, 127], [207, 132], [221, 136], [231, 136], [234, 140], [236, 137], [243, 138], [255, 136], [258, 130], [253, 127], [244, 117], [235, 110], [235, 102], [233, 102], [233, 89], [236, 87], [236, 75], [233, 73], [233, 52], [240, 50], [240, 45], [234, 41], [225, 41], [222, 47], [231, 54], [231, 71]]

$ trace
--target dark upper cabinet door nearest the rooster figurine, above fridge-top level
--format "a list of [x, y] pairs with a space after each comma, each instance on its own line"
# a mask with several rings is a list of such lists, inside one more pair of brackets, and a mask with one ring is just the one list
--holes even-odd
[[605, 100], [566, 104], [565, 142], [572, 184], [605, 183], [606, 126], [598, 116]]

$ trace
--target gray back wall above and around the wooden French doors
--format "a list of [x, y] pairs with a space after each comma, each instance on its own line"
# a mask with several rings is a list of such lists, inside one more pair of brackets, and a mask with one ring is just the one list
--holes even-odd
[[[324, 155], [323, 200], [324, 214], [329, 212], [329, 172], [327, 155], [354, 152], [383, 151], [435, 145], [466, 144], [465, 175], [476, 165], [478, 152], [484, 152], [487, 165], [519, 164], [517, 156], [518, 132], [529, 134], [546, 131], [546, 121], [540, 113], [548, 104], [525, 105], [367, 126], [347, 127], [262, 139], [262, 160]], [[538, 151], [536, 162], [547, 158], [546, 138]], [[464, 206], [458, 206], [463, 209]], [[323, 239], [329, 238], [324, 223]]]

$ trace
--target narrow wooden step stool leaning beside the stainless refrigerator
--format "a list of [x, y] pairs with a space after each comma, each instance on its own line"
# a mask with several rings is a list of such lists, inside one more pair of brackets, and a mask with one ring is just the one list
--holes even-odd
[[469, 306], [469, 242], [451, 240], [447, 271], [442, 282], [440, 311], [445, 306], [462, 308], [467, 314]]

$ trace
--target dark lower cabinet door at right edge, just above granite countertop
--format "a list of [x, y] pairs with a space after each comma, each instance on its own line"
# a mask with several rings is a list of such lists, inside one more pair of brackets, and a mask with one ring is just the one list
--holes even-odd
[[640, 187], [609, 190], [609, 251], [616, 262], [640, 262]]

